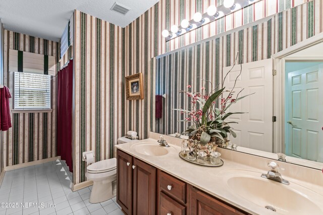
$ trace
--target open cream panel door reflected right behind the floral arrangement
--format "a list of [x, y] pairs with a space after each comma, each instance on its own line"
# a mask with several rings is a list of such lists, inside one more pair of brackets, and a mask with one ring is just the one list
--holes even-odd
[[[223, 68], [225, 76], [231, 66]], [[240, 65], [235, 65], [225, 80], [226, 89], [232, 89]], [[242, 73], [238, 78], [235, 95], [252, 94], [231, 105], [227, 112], [244, 112], [228, 117], [237, 137], [230, 137], [231, 142], [241, 147], [273, 152], [273, 63], [272, 59], [259, 60], [242, 64]], [[239, 96], [239, 97], [240, 97]]]

